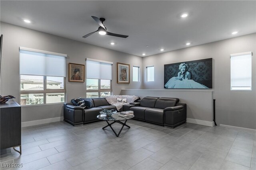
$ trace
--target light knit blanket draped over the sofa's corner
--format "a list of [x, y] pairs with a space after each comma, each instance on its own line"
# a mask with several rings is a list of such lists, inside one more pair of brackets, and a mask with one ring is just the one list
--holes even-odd
[[[123, 105], [129, 104], [134, 102], [138, 99], [138, 96], [130, 96], [130, 95], [113, 95], [113, 96], [106, 96], [105, 97], [107, 102], [113, 106], [116, 106], [116, 109], [119, 111]], [[127, 103], [117, 103], [117, 98], [120, 99], [127, 99]]]

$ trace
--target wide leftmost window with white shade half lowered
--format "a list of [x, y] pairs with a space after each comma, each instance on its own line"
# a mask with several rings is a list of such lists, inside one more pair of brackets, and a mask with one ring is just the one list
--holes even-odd
[[20, 105], [66, 101], [65, 56], [20, 47]]

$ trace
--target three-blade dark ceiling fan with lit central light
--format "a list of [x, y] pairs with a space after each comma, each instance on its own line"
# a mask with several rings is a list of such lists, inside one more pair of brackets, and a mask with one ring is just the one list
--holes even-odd
[[121, 34], [115, 34], [115, 33], [108, 32], [107, 28], [103, 25], [103, 22], [105, 21], [105, 18], [100, 18], [99, 19], [95, 16], [92, 16], [92, 18], [100, 25], [100, 27], [98, 28], [98, 30], [84, 35], [83, 38], [86, 38], [86, 37], [92, 35], [95, 32], [99, 32], [100, 35], [111, 35], [111, 36], [121, 37], [121, 38], [127, 38], [128, 37], [128, 35], [121, 35]]

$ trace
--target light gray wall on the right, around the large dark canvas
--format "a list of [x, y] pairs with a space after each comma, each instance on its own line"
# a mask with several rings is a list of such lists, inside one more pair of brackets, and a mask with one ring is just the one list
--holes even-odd
[[[252, 51], [252, 90], [230, 90], [230, 54]], [[164, 89], [164, 64], [213, 58], [216, 123], [256, 129], [256, 34], [198, 45], [143, 58], [143, 89]], [[154, 82], [146, 82], [146, 66], [155, 69]], [[244, 73], [246, 74], [246, 73]], [[198, 103], [200, 105], [200, 103]]]

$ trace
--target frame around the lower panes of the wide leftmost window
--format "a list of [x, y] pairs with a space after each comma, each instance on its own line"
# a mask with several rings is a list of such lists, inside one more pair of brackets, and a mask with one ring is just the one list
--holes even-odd
[[[20, 74], [21, 75], [27, 75], [27, 76], [35, 76], [35, 75], [30, 75], [30, 74]], [[42, 75], [38, 75], [38, 76], [42, 76]], [[44, 103], [43, 104], [31, 104], [31, 105], [21, 105], [21, 106], [42, 106], [42, 105], [49, 105], [49, 104], [62, 104], [66, 102], [66, 77], [63, 77], [63, 89], [47, 89], [47, 82], [46, 82], [46, 77], [47, 76], [43, 76], [43, 84], [44, 84], [44, 90], [20, 90], [20, 95], [22, 94], [43, 94], [44, 97]], [[54, 76], [51, 76], [54, 77]], [[56, 76], [56, 77], [60, 77], [60, 76]], [[21, 79], [20, 79], [21, 80]], [[21, 82], [20, 82], [21, 85]], [[58, 102], [58, 103], [46, 103], [46, 94], [54, 94], [54, 93], [64, 93], [64, 102]], [[20, 96], [19, 96], [19, 100], [20, 100]], [[21, 102], [21, 100], [20, 100]]]

